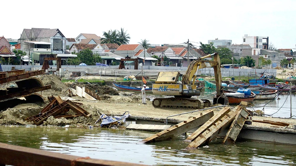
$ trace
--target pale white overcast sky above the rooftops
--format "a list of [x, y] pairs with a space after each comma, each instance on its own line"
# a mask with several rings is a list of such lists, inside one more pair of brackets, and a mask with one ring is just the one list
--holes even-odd
[[[23, 29], [58, 28], [66, 38], [124, 28], [129, 44], [180, 44], [215, 38], [242, 44], [268, 36], [276, 48], [296, 46], [296, 1], [3, 1], [0, 36], [20, 38]], [[5, 7], [4, 7], [5, 6]], [[9, 17], [9, 19], [4, 19]], [[4, 23], [6, 22], [6, 23]], [[295, 51], [295, 50], [293, 50]]]

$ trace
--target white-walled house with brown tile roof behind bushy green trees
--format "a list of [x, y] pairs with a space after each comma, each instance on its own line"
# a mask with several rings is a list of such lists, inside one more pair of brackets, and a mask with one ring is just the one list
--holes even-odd
[[74, 51], [76, 53], [79, 53], [83, 49], [90, 49], [94, 54], [104, 54], [104, 50], [100, 44], [80, 44], [80, 43], [74, 43], [71, 48], [69, 49], [70, 53], [73, 53]]

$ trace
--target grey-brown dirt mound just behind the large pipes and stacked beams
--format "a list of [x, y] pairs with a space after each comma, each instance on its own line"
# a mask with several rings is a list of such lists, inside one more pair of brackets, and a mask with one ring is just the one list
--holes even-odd
[[40, 79], [44, 85], [51, 85], [51, 89], [57, 92], [63, 92], [68, 88], [55, 74], [43, 75]]

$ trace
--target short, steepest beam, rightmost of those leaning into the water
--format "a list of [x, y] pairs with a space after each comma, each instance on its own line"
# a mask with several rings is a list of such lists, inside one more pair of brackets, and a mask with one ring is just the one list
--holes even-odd
[[233, 122], [231, 123], [229, 130], [226, 133], [226, 136], [223, 140], [223, 144], [225, 144], [226, 141], [232, 143], [236, 141], [237, 136], [242, 130], [242, 126], [244, 126], [244, 122], [247, 120], [248, 116], [249, 113], [244, 108], [239, 110]]

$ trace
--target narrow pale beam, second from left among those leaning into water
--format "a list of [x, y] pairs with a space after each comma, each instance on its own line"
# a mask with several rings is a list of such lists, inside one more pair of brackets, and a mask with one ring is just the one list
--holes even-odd
[[194, 131], [189, 137], [185, 139], [185, 142], [191, 142], [196, 139], [203, 131], [207, 129], [207, 126], [215, 124], [217, 121], [222, 121], [222, 117], [231, 111], [231, 107], [226, 106], [222, 108], [216, 115], [210, 118], [205, 124], [203, 124], [198, 130]]

